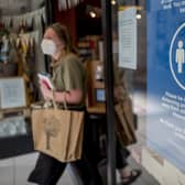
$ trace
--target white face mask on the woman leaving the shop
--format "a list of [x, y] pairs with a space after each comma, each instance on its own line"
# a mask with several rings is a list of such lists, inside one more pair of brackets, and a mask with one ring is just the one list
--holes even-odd
[[45, 55], [54, 56], [56, 53], [56, 44], [52, 40], [44, 39], [41, 43], [42, 51]]

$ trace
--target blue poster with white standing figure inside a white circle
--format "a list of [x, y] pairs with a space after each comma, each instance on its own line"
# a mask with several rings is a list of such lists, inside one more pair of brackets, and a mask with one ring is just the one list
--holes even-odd
[[185, 1], [148, 0], [149, 148], [185, 172]]

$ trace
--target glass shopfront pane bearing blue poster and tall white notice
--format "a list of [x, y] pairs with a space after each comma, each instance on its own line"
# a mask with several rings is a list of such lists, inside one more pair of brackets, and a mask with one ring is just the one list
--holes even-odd
[[184, 1], [117, 3], [118, 63], [138, 115], [131, 151], [160, 184], [184, 184]]

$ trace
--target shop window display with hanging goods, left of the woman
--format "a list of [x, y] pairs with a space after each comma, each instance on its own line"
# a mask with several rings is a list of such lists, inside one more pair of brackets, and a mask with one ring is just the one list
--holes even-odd
[[[1, 1], [0, 143], [3, 142], [3, 152], [0, 157], [33, 150], [30, 108], [40, 96], [37, 73], [45, 70], [40, 47], [45, 25], [43, 0]], [[6, 141], [12, 140], [13, 144], [18, 138], [23, 143], [14, 143], [11, 150]]]

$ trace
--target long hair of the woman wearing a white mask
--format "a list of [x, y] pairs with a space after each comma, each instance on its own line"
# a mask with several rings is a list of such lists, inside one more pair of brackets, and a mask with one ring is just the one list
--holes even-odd
[[57, 22], [57, 23], [48, 25], [47, 29], [52, 29], [56, 33], [58, 39], [62, 42], [64, 42], [65, 50], [66, 50], [67, 53], [77, 53], [76, 48], [73, 45], [72, 36], [69, 34], [69, 31], [65, 25]]

